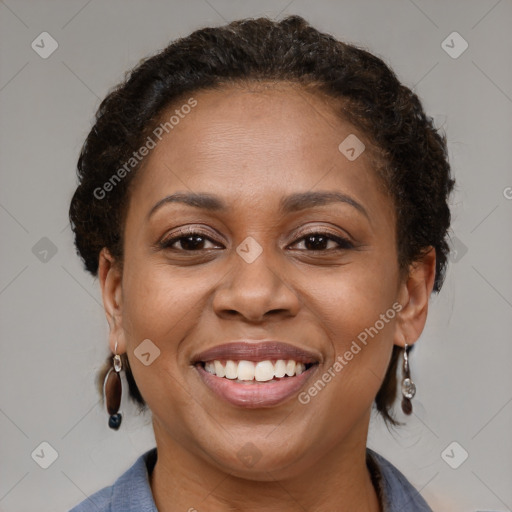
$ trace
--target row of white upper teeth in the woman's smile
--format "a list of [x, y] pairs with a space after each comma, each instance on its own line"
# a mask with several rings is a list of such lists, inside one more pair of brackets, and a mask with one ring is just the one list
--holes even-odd
[[257, 380], [265, 382], [272, 380], [274, 377], [284, 377], [288, 375], [300, 375], [306, 369], [304, 363], [298, 363], [292, 359], [285, 361], [278, 359], [277, 361], [226, 361], [222, 364], [221, 361], [208, 361], [205, 363], [204, 369], [217, 377], [226, 377], [227, 379], [238, 380]]

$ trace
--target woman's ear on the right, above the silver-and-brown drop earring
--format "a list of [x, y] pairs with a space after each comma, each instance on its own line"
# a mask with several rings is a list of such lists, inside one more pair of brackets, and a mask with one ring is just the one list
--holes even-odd
[[400, 285], [394, 344], [403, 347], [414, 344], [423, 332], [427, 320], [428, 301], [436, 275], [436, 251], [433, 247], [409, 267], [409, 275]]

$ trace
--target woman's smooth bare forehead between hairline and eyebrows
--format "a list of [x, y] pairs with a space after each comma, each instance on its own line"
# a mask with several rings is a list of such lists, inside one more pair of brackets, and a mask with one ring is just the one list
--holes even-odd
[[[229, 86], [191, 96], [196, 106], [164, 133], [138, 171], [137, 204], [150, 208], [166, 193], [187, 189], [250, 198], [255, 205], [314, 188], [375, 199], [364, 134], [320, 96], [288, 84]], [[162, 119], [179, 113], [180, 105]], [[349, 136], [366, 146], [353, 161], [339, 149]]]

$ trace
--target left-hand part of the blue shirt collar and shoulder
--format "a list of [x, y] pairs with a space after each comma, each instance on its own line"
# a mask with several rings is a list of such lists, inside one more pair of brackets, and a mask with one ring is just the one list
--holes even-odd
[[149, 485], [156, 457], [156, 448], [148, 450], [113, 485], [95, 492], [69, 512], [157, 512]]

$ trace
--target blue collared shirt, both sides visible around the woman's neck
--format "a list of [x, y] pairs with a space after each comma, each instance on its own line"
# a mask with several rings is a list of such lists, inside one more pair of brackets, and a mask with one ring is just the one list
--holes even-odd
[[[156, 448], [152, 448], [113, 485], [97, 491], [69, 512], [158, 512], [149, 485], [149, 475], [156, 458]], [[366, 461], [377, 486], [383, 512], [432, 512], [420, 493], [384, 457], [367, 448]]]

